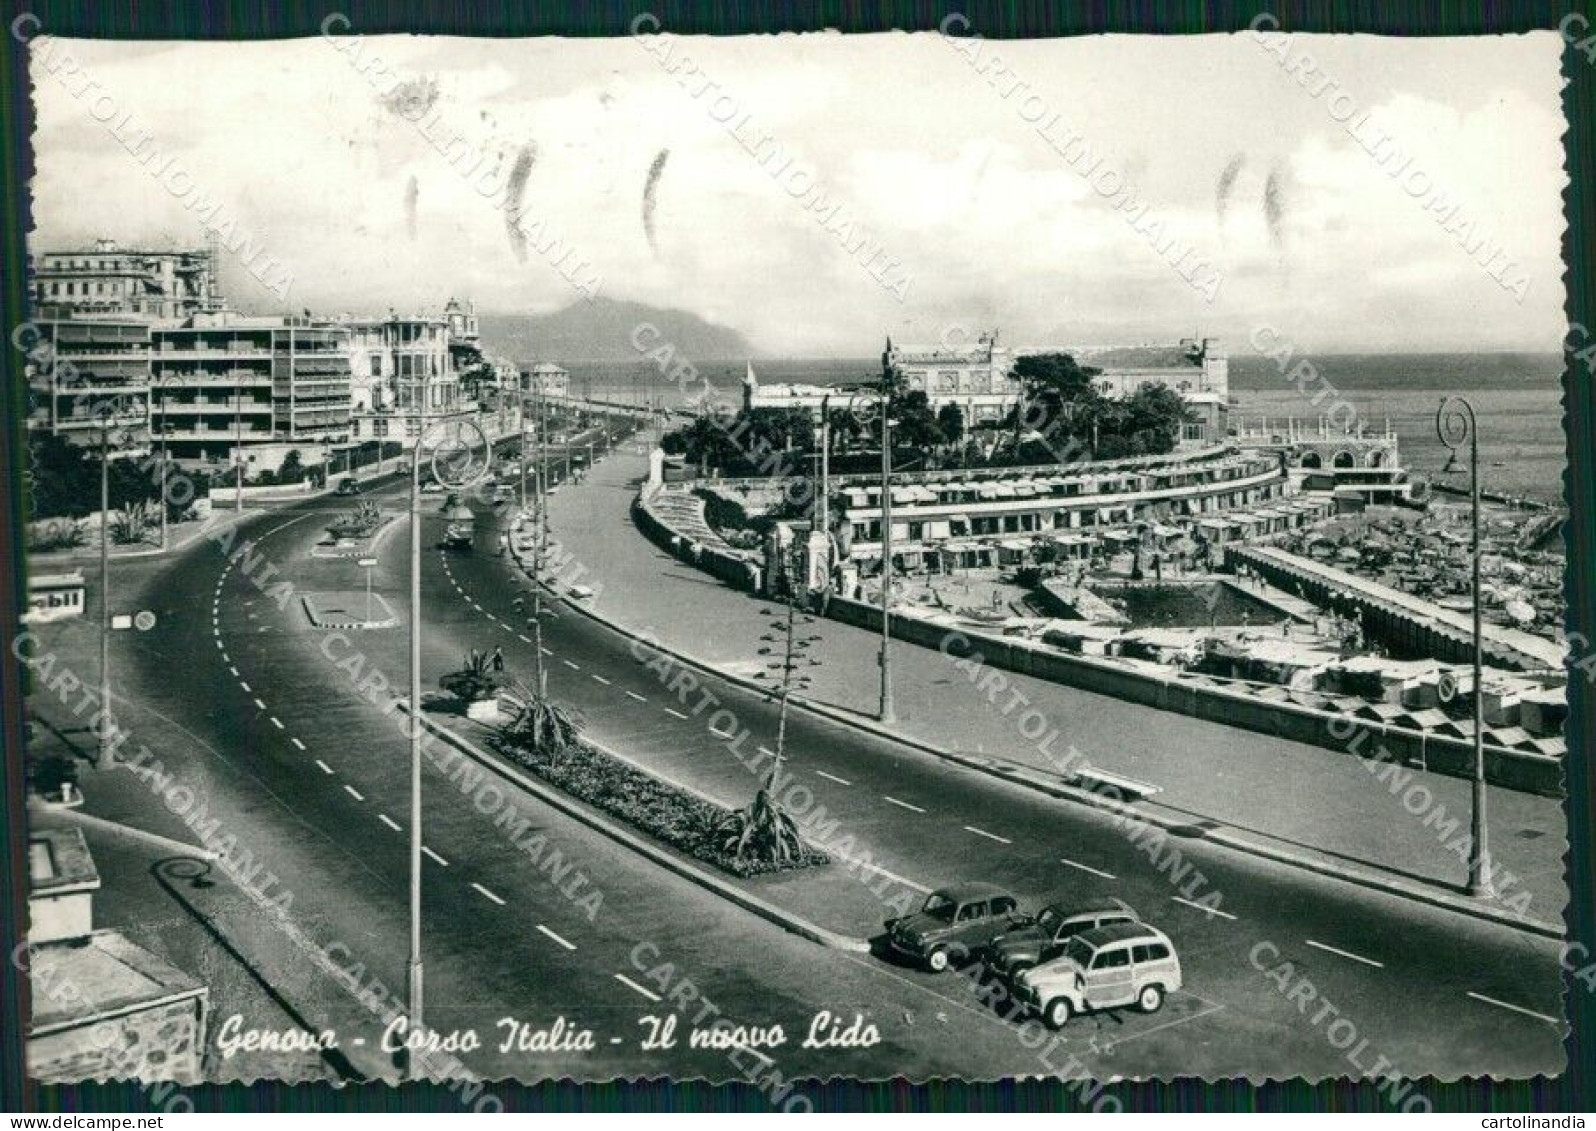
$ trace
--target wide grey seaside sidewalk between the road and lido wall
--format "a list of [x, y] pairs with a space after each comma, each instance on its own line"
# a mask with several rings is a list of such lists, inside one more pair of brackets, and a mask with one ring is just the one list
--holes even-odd
[[[689, 660], [749, 680], [763, 670], [758, 638], [771, 624], [760, 609], [777, 606], [672, 558], [637, 530], [630, 504], [646, 463], [622, 448], [600, 461], [584, 483], [549, 501], [562, 554], [586, 568], [584, 584], [602, 585], [597, 598], [581, 605]], [[824, 619], [806, 632], [819, 636], [811, 656], [820, 660], [808, 670], [814, 680], [808, 699], [873, 727], [879, 636]], [[1467, 836], [1467, 780], [1419, 770], [1408, 778], [1404, 770], [1403, 778], [1393, 778], [1393, 791], [1369, 772], [1369, 763], [1345, 753], [1001, 675], [1001, 692], [982, 689], [950, 657], [895, 643], [897, 723], [891, 735], [999, 777], [1061, 785], [1057, 764], [1018, 729], [1025, 711], [1012, 707], [1018, 694], [1060, 732], [1052, 743], [1055, 759], [1073, 745], [1096, 769], [1160, 786], [1152, 801], [1138, 806], [1149, 818], [1203, 822], [1210, 834], [1307, 858], [1333, 874], [1365, 868], [1443, 898], [1459, 892], [1464, 865], [1448, 845], [1457, 844], [1456, 828]], [[1499, 898], [1523, 900], [1527, 892], [1532, 919], [1559, 922], [1567, 901], [1561, 802], [1495, 786], [1487, 793], [1494, 861], [1515, 877], [1511, 885], [1499, 884]], [[1404, 807], [1416, 798], [1428, 801], [1427, 807]], [[1425, 817], [1433, 820], [1425, 823]], [[1444, 834], [1449, 822], [1457, 825]], [[1511, 914], [1500, 903], [1497, 911]]]

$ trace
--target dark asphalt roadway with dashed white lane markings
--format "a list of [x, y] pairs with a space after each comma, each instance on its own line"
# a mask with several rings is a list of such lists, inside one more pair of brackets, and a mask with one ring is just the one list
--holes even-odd
[[[265, 557], [298, 592], [359, 585], [353, 562], [308, 557], [327, 506], [306, 502], [251, 523]], [[425, 522], [431, 539], [440, 522]], [[402, 525], [378, 557], [378, 592], [402, 609]], [[436, 686], [466, 648], [488, 643], [504, 648], [512, 670], [530, 672], [531, 644], [511, 606], [509, 565], [492, 552], [455, 555], [444, 565], [442, 555], [426, 555], [423, 686]], [[259, 842], [281, 845], [278, 863], [289, 868], [282, 874], [302, 877], [308, 890], [295, 909], [303, 906], [326, 936], [356, 940], [364, 965], [399, 987], [405, 742], [359, 700], [351, 673], [326, 659], [324, 636], [297, 605], [279, 611], [239, 569], [223, 573], [223, 566], [217, 550], [201, 544], [166, 571], [176, 616], [139, 641], [147, 662], [132, 675], [131, 694], [160, 702], [209, 747], [247, 761], [236, 780], [215, 783], [217, 807], [236, 822], [241, 841], [254, 830]], [[552, 692], [579, 708], [597, 737], [717, 796], [747, 794], [747, 770], [705, 734], [705, 718], [688, 715], [624, 640], [565, 611], [546, 622], [544, 641]], [[361, 643], [369, 657], [362, 676], [375, 667], [404, 683], [402, 629], [362, 633]], [[179, 672], [182, 680], [174, 681]], [[713, 689], [768, 745], [772, 707], [733, 684]], [[1224, 914], [1213, 914], [1183, 903], [1170, 879], [1095, 812], [804, 715], [788, 721], [788, 750], [795, 772], [843, 828], [915, 885], [990, 879], [1028, 904], [1114, 895], [1171, 933], [1187, 992], [1156, 1016], [1074, 1023], [1063, 1051], [1050, 1054], [1055, 1064], [1073, 1054], [1104, 1075], [1342, 1075], [1381, 1058], [1408, 1075], [1561, 1069], [1555, 1021], [1561, 981], [1551, 941], [1262, 866], [1192, 837], [1183, 845], [1186, 860], [1223, 893]], [[956, 975], [934, 976], [796, 940], [519, 799], [551, 844], [603, 892], [603, 908], [589, 922], [431, 767], [426, 798], [426, 839], [436, 853], [425, 908], [429, 1024], [476, 1026], [492, 1043], [500, 1016], [547, 1023], [563, 1015], [591, 1026], [600, 1040], [597, 1053], [583, 1056], [492, 1050], [466, 1056], [488, 1075], [734, 1074], [725, 1054], [637, 1050], [637, 1018], [666, 1008], [650, 1000], [659, 987], [632, 962], [638, 943], [658, 948], [674, 978], [689, 978], [728, 1013], [750, 1023], [779, 1019], [790, 1038], [772, 1056], [787, 1077], [1045, 1070], [1021, 1040], [1029, 1034], [983, 1008]], [[1261, 941], [1275, 948], [1277, 962], [1293, 964], [1293, 986], [1312, 981], [1306, 1016], [1301, 991], [1288, 1000], [1250, 964]], [[1337, 1013], [1321, 1013], [1320, 1002]], [[867, 1013], [883, 1043], [868, 1053], [796, 1048], [820, 1008]], [[1357, 1029], [1350, 1062], [1326, 1032], [1336, 1016]], [[610, 1045], [613, 1038], [622, 1043]]]

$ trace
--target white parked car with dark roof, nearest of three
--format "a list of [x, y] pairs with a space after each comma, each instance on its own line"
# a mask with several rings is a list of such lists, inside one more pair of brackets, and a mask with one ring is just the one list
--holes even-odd
[[1076, 935], [1052, 962], [1020, 971], [1015, 997], [1052, 1029], [1076, 1013], [1135, 1005], [1156, 1013], [1181, 987], [1170, 936], [1146, 924], [1112, 924]]

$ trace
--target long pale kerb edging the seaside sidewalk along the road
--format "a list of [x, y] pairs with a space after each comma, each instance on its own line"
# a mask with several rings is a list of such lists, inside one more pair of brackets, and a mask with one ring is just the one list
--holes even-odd
[[[520, 557], [517, 557], [517, 563], [520, 563]], [[522, 563], [522, 568], [525, 569], [525, 563]], [[528, 576], [531, 576], [530, 571], [527, 573]], [[587, 608], [579, 600], [573, 600], [571, 597], [560, 593], [552, 585], [544, 584], [541, 579], [533, 577], [533, 581], [543, 585], [555, 600], [562, 601], [567, 608], [583, 613], [592, 621], [597, 621], [598, 624], [605, 625], [606, 629], [611, 629], [613, 632], [621, 633], [629, 640], [642, 643], [656, 652], [664, 652], [666, 656], [670, 656], [680, 660], [681, 664], [686, 664], [688, 667], [697, 668], [705, 675], [715, 676], [718, 680], [726, 680], [728, 683], [734, 683], [747, 691], [758, 694], [769, 692], [768, 688], [760, 686], [755, 680], [749, 680], [733, 672], [726, 672], [725, 668], [715, 667], [713, 664], [709, 664], [705, 660], [701, 660], [694, 656], [677, 651], [674, 648], [666, 648], [658, 640], [650, 640], [648, 636], [634, 632], [627, 625], [619, 624], [618, 621], [611, 621], [610, 617], [605, 617], [597, 609]], [[951, 750], [934, 747], [929, 742], [922, 742], [899, 731], [889, 731], [871, 719], [851, 715], [849, 711], [832, 707], [828, 703], [820, 703], [806, 699], [803, 696], [792, 696], [788, 702], [800, 710], [809, 711], [811, 715], [817, 715], [832, 723], [839, 723], [843, 726], [851, 726], [859, 731], [865, 731], [878, 739], [895, 742], [899, 745], [916, 750], [922, 755], [929, 755], [945, 763], [961, 766], [962, 769], [977, 770], [980, 774], [986, 774], [988, 777], [994, 777], [1001, 782], [1009, 782], [1010, 785], [1020, 785], [1028, 790], [1036, 790], [1039, 793], [1045, 793], [1061, 801], [1076, 801], [1090, 806], [1093, 809], [1101, 809], [1104, 812], [1120, 817], [1128, 814], [1133, 815], [1136, 820], [1156, 825], [1165, 831], [1176, 828], [1184, 830], [1191, 826], [1189, 818], [1163, 817], [1160, 814], [1152, 814], [1143, 809], [1136, 809], [1135, 806], [1127, 806], [1120, 801], [1114, 801], [1112, 798], [1104, 798], [1101, 794], [1092, 793], [1090, 790], [1080, 790], [1077, 786], [1065, 785], [1063, 782], [1050, 782], [1036, 770], [1028, 770], [1023, 767], [1009, 769], [996, 764], [991, 759], [958, 755]], [[1207, 831], [1203, 833], [1202, 839], [1207, 841], [1208, 844], [1216, 844], [1226, 849], [1232, 849], [1235, 852], [1245, 852], [1248, 855], [1259, 857], [1272, 863], [1286, 865], [1291, 868], [1301, 868], [1304, 871], [1310, 871], [1318, 876], [1328, 876], [1329, 879], [1339, 879], [1349, 884], [1355, 884], [1358, 887], [1384, 892], [1385, 895], [1396, 895], [1406, 900], [1414, 900], [1417, 903], [1427, 903], [1430, 906], [1441, 908], [1444, 911], [1456, 911], [1459, 914], [1473, 916], [1475, 919], [1484, 919], [1489, 922], [1500, 924], [1503, 927], [1515, 927], [1531, 935], [1540, 935], [1545, 938], [1564, 938], [1567, 933], [1564, 924], [1551, 924], [1542, 919], [1527, 919], [1527, 917], [1521, 919], [1519, 916], [1510, 914], [1507, 911], [1499, 911], [1492, 906], [1475, 903], [1473, 900], [1468, 900], [1467, 897], [1462, 895], [1452, 895], [1449, 892], [1433, 890], [1425, 885], [1409, 884], [1400, 879], [1377, 876], [1369, 871], [1350, 868], [1344, 863], [1328, 863], [1323, 860], [1315, 860], [1314, 857], [1309, 855], [1258, 844], [1256, 841], [1248, 841], [1246, 837], [1235, 836], [1231, 833]]]

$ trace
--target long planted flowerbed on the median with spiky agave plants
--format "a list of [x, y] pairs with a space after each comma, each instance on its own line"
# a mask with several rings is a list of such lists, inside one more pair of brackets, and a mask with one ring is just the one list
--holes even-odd
[[824, 852], [809, 845], [804, 845], [801, 855], [784, 863], [737, 860], [720, 847], [715, 834], [715, 826], [728, 814], [726, 809], [661, 782], [658, 777], [592, 747], [576, 745], [560, 756], [551, 756], [527, 750], [500, 735], [493, 735], [488, 747], [501, 758], [531, 770], [573, 798], [586, 801], [589, 806], [624, 820], [632, 828], [664, 841], [672, 849], [733, 876], [795, 871], [830, 860]]

